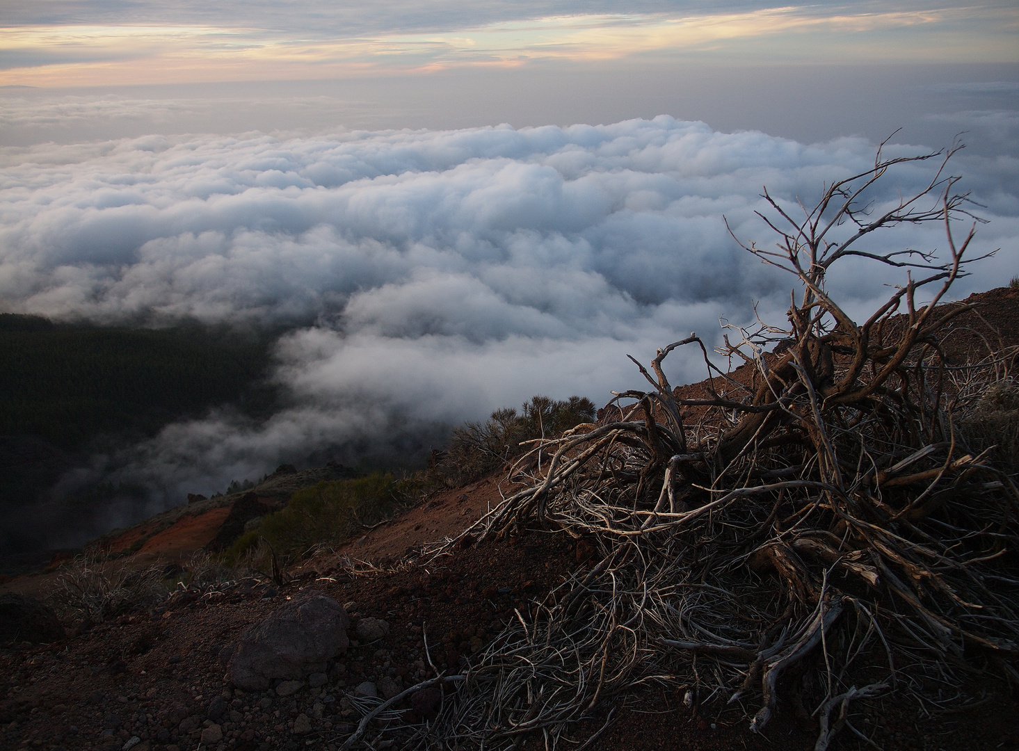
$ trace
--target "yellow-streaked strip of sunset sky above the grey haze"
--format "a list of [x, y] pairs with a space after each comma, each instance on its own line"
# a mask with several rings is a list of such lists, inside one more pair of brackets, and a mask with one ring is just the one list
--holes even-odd
[[4, 3], [0, 83], [71, 87], [424, 74], [614, 60], [1016, 62], [1008, 0]]

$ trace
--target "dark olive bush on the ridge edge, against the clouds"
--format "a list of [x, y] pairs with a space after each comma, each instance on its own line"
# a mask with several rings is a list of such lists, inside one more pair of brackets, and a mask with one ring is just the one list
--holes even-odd
[[558, 435], [591, 422], [594, 416], [594, 403], [584, 396], [565, 401], [532, 396], [524, 403], [521, 414], [504, 407], [483, 423], [469, 422], [455, 428], [445, 457], [433, 472], [446, 485], [465, 485], [523, 453], [523, 441]]

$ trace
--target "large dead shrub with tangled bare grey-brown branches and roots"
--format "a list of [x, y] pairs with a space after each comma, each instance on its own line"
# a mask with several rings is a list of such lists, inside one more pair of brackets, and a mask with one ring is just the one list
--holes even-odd
[[[651, 389], [618, 394], [618, 420], [533, 442], [546, 458], [533, 483], [468, 532], [560, 529], [597, 545], [600, 562], [518, 613], [422, 743], [508, 748], [540, 733], [551, 747], [605, 698], [659, 684], [690, 703], [739, 704], [754, 731], [781, 686], [818, 719], [823, 749], [852, 728], [855, 699], [899, 690], [925, 706], [923, 678], [951, 684], [963, 664], [1019, 678], [1019, 577], [1008, 573], [1019, 491], [958, 427], [977, 409], [972, 385], [1009, 388], [1010, 366], [950, 365], [942, 344], [968, 310], [940, 305], [973, 237], [953, 235], [953, 220], [972, 218], [945, 172], [956, 150], [878, 150], [800, 220], [765, 193], [777, 250], [744, 247], [801, 294], [788, 326], [731, 329], [719, 353], [752, 366], [743, 377], [691, 335], [650, 371], [634, 361]], [[873, 211], [868, 190], [892, 167], [937, 156], [923, 190]], [[861, 249], [877, 229], [926, 222], [944, 223], [945, 257]], [[853, 256], [907, 271], [862, 324], [825, 285]], [[678, 396], [662, 370], [690, 345], [709, 369], [703, 398]]]

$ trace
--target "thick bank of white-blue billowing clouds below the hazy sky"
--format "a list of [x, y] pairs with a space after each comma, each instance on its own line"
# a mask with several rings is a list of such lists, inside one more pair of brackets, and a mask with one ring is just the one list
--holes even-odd
[[[123, 512], [137, 517], [324, 446], [413, 459], [443, 426], [535, 393], [603, 404], [640, 386], [627, 354], [646, 362], [691, 331], [717, 342], [719, 317], [747, 323], [755, 305], [782, 323], [791, 279], [733, 234], [772, 244], [755, 215], [763, 186], [796, 212], [866, 170], [874, 150], [667, 116], [10, 147], [0, 305], [59, 320], [289, 327], [273, 376], [286, 409], [261, 424], [220, 411], [96, 458], [96, 472], [116, 465], [152, 489]], [[875, 209], [920, 190], [936, 161], [893, 171]], [[950, 170], [989, 220], [972, 255], [1002, 249], [958, 282], [961, 298], [1019, 271], [1019, 164], [963, 152]], [[946, 237], [908, 226], [867, 243], [930, 251]], [[828, 284], [862, 315], [904, 278], [850, 261]], [[674, 383], [703, 375], [694, 357], [669, 360]]]

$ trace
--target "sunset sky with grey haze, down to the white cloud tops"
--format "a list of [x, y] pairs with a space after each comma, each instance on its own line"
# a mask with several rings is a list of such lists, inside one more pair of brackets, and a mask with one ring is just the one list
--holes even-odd
[[0, 145], [658, 114], [1001, 140], [1011, 115], [958, 113], [1014, 111], [1019, 86], [1009, 0], [8, 0], [0, 23], [0, 86], [34, 87], [0, 89]]

